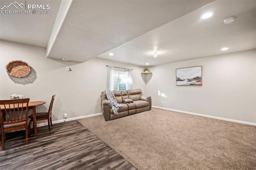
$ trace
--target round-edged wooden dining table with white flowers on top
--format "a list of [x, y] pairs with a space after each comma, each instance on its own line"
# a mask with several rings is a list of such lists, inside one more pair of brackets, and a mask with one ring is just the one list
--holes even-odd
[[[35, 135], [37, 135], [36, 106], [43, 105], [45, 103], [46, 103], [45, 101], [30, 101], [30, 102], [28, 102], [28, 109], [29, 110], [32, 109], [32, 112], [33, 112], [33, 127], [34, 127], [34, 130], [35, 130]], [[0, 105], [0, 108], [1, 108], [1, 112], [4, 111], [4, 105]], [[6, 106], [6, 109], [9, 109], [9, 107]], [[12, 107], [12, 105], [11, 105], [10, 109], [14, 109]], [[3, 114], [5, 114], [5, 113], [3, 112]], [[3, 117], [5, 117], [5, 115], [3, 115]]]

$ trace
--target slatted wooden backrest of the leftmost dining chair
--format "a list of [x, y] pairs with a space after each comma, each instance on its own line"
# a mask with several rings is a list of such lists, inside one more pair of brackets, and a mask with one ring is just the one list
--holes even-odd
[[[2, 125], [25, 122], [28, 123], [29, 99], [0, 100], [0, 123]], [[3, 117], [4, 115], [4, 117]]]

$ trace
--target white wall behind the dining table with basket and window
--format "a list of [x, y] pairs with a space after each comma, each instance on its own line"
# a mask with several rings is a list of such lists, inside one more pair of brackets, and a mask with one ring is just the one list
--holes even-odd
[[[9, 61], [26, 61], [34, 69], [34, 78], [14, 79], [5, 66]], [[47, 111], [50, 99], [56, 94], [53, 121], [101, 113], [100, 95], [106, 89], [106, 65], [133, 69], [133, 89], [146, 90], [141, 76], [144, 67], [94, 58], [85, 63], [57, 61], [46, 58], [46, 49], [20, 43], [0, 41], [0, 99], [22, 94], [30, 101], [46, 101], [37, 111]], [[66, 71], [70, 66], [72, 71]]]

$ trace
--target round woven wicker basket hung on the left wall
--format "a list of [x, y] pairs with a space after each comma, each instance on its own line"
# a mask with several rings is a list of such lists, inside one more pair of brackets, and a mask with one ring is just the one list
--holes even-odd
[[28, 63], [21, 60], [10, 61], [6, 66], [6, 71], [13, 77], [25, 77], [27, 76], [31, 68]]

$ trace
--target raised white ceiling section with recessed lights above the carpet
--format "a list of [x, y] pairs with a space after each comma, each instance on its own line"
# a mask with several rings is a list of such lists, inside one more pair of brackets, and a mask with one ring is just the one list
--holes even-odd
[[[214, 16], [201, 20], [212, 11]], [[235, 21], [224, 24], [225, 18]], [[221, 51], [228, 47], [227, 51]], [[145, 66], [159, 65], [256, 48], [256, 1], [215, 1], [124, 43], [100, 58]], [[157, 57], [154, 57], [157, 51]], [[114, 53], [110, 56], [109, 53]]]

